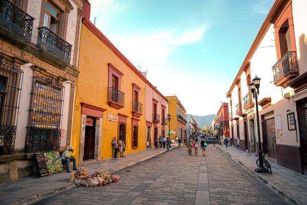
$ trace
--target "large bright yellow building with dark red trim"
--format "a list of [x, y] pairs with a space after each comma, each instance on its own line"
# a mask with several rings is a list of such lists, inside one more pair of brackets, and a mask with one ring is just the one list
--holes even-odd
[[84, 10], [71, 143], [79, 165], [113, 157], [114, 136], [125, 154], [145, 149], [146, 78], [90, 22], [87, 1]]

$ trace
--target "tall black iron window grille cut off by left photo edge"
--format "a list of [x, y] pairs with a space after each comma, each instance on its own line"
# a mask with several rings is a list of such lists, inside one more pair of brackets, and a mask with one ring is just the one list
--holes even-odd
[[24, 72], [7, 58], [0, 56], [0, 155], [13, 154]]

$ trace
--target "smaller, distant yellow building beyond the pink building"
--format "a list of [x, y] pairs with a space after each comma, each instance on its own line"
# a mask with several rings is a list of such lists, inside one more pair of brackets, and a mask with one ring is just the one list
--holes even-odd
[[184, 138], [187, 136], [185, 129], [185, 125], [187, 124], [186, 110], [176, 95], [165, 96], [165, 98], [168, 100], [168, 113], [171, 116], [168, 127], [173, 134], [170, 135], [170, 138], [175, 139], [176, 136]]

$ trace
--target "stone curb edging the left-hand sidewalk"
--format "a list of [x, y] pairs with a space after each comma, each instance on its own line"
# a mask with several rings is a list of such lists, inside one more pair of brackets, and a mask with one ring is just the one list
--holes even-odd
[[[177, 146], [172, 146], [170, 147], [169, 149], [174, 149], [176, 148]], [[140, 162], [143, 162], [145, 160], [148, 160], [149, 158], [151, 157], [154, 157], [154, 156], [157, 156], [159, 154], [162, 154], [166, 152], [166, 149], [163, 150], [163, 151], [160, 151], [160, 152], [157, 152], [155, 154], [151, 154], [149, 156], [146, 156], [144, 158], [141, 158], [140, 160], [137, 160], [137, 161], [134, 161], [134, 162], [130, 162], [128, 164], [125, 164], [125, 165], [122, 165], [120, 167], [116, 167], [114, 169], [110, 169], [110, 170], [105, 170], [103, 172], [114, 172], [114, 171], [117, 171], [117, 170], [120, 170], [120, 169], [123, 169], [125, 167], [129, 167], [129, 166], [132, 166], [132, 165], [135, 165], [137, 163], [140, 163]], [[9, 203], [9, 205], [25, 205], [25, 204], [33, 204], [33, 203], [36, 203], [38, 201], [41, 201], [43, 200], [44, 198], [47, 198], [47, 197], [50, 197], [50, 196], [53, 196], [53, 195], [56, 195], [56, 194], [59, 194], [61, 192], [64, 192], [64, 191], [67, 191], [68, 189], [72, 189], [72, 188], [75, 188], [75, 187], [78, 187], [76, 185], [76, 183], [74, 182], [68, 182], [68, 183], [65, 183], [63, 184], [62, 186], [60, 187], [57, 187], [57, 188], [54, 188], [54, 189], [50, 189], [50, 190], [47, 190], [45, 192], [41, 192], [39, 194], [36, 194], [36, 195], [33, 195], [33, 196], [30, 196], [28, 198], [25, 198], [25, 199], [21, 199], [19, 201], [16, 201], [16, 202], [13, 202], [13, 203]]]

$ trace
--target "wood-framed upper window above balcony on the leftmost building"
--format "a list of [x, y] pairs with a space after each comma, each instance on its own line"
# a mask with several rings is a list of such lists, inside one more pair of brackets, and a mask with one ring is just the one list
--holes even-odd
[[43, 17], [43, 27], [47, 27], [53, 33], [58, 35], [61, 12], [51, 3], [46, 2], [45, 15]]

